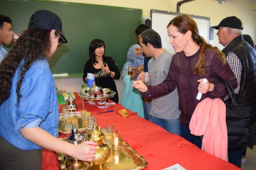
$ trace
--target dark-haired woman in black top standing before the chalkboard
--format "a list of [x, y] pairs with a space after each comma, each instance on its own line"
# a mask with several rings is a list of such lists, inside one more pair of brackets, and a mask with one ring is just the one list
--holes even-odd
[[120, 78], [120, 71], [116, 62], [111, 57], [106, 57], [105, 43], [101, 39], [94, 39], [89, 46], [90, 59], [86, 61], [84, 66], [84, 82], [87, 82], [87, 73], [94, 74], [96, 85], [102, 88], [110, 88], [116, 92], [113, 98], [114, 102], [118, 103], [118, 92], [114, 78]]

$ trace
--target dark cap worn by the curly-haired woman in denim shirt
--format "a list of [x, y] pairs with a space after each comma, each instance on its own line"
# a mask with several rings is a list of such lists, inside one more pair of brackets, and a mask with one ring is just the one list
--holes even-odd
[[30, 18], [28, 29], [55, 29], [62, 38], [59, 39], [60, 43], [68, 43], [67, 39], [62, 34], [62, 22], [60, 17], [55, 13], [48, 10], [38, 10]]

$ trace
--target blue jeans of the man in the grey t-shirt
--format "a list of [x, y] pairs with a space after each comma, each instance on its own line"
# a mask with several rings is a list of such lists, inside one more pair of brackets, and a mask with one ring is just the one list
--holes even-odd
[[174, 133], [176, 135], [180, 135], [180, 121], [179, 119], [161, 119], [152, 116], [152, 123], [155, 123], [158, 126], [161, 126], [166, 131], [170, 133]]

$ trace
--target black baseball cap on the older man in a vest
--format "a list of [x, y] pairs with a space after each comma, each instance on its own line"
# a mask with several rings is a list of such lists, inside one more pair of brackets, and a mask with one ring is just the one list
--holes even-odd
[[219, 29], [219, 27], [230, 27], [241, 30], [244, 29], [242, 21], [235, 16], [224, 18], [222, 21], [220, 21], [219, 25], [213, 26], [214, 29]]

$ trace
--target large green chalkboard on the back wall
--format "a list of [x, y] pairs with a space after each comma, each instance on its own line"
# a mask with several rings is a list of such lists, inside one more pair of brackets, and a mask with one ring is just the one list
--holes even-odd
[[122, 70], [129, 47], [138, 43], [134, 30], [142, 23], [141, 9], [41, 0], [1, 0], [0, 14], [12, 19], [14, 32], [22, 33], [27, 29], [30, 16], [42, 9], [60, 16], [62, 32], [68, 40], [48, 59], [53, 74], [67, 72], [69, 77], [81, 76], [89, 59], [89, 44], [95, 38], [105, 42], [105, 55], [112, 57]]

